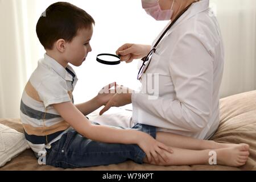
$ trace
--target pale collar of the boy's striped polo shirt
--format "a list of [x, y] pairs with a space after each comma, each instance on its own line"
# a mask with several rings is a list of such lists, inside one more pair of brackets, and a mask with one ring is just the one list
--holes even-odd
[[[55, 59], [48, 56], [46, 53], [44, 54], [44, 59], [42, 59], [40, 63], [47, 65], [47, 67], [53, 69], [53, 71], [55, 71], [58, 75], [64, 78], [64, 80], [73, 81], [72, 75], [69, 74], [67, 70], [62, 65], [60, 65]], [[77, 76], [73, 68], [70, 65], [67, 65], [67, 68], [74, 73], [75, 80], [77, 80]]]

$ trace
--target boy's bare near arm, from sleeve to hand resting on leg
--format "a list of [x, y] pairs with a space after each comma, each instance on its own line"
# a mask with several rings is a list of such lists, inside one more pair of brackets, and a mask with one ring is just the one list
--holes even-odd
[[72, 102], [53, 104], [54, 109], [82, 136], [105, 143], [138, 144], [150, 160], [151, 155], [159, 160], [158, 155], [168, 160], [163, 150], [172, 150], [150, 135], [137, 130], [115, 129], [113, 127], [92, 125]]

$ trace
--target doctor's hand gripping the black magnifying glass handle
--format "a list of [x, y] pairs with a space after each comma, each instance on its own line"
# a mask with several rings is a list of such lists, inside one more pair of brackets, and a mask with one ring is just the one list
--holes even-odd
[[147, 56], [150, 52], [151, 46], [142, 44], [123, 44], [115, 52], [120, 56], [121, 61], [126, 61], [126, 63], [131, 63], [134, 59], [141, 59]]

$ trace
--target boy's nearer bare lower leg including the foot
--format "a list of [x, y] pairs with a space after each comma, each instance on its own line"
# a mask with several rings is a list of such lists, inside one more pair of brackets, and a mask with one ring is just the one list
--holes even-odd
[[[244, 165], [249, 156], [249, 146], [247, 144], [238, 144], [234, 147], [221, 148], [217, 150], [187, 150], [175, 147], [171, 148], [174, 151], [173, 154], [166, 152], [166, 155], [169, 157], [168, 163], [163, 162], [162, 160], [157, 165], [180, 166], [193, 164], [209, 164], [209, 158], [212, 156], [213, 153], [215, 153], [217, 164], [238, 167]], [[144, 162], [149, 163], [147, 159], [144, 159]], [[155, 162], [151, 162], [150, 164], [155, 164]]]

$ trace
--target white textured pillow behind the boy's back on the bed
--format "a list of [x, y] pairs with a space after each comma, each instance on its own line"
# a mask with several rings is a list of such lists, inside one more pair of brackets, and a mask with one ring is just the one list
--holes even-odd
[[23, 133], [0, 124], [0, 167], [30, 148]]

